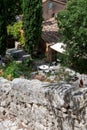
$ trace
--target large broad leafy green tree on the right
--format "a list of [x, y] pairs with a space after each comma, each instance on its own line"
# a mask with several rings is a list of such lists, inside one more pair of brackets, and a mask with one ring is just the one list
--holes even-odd
[[[87, 58], [87, 0], [70, 0], [57, 15], [68, 61]], [[75, 60], [76, 59], [76, 60]]]

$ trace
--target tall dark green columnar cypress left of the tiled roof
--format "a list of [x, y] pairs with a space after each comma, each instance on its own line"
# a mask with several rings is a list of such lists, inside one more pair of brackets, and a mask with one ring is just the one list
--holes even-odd
[[24, 0], [23, 30], [25, 48], [30, 53], [37, 47], [42, 32], [42, 0]]

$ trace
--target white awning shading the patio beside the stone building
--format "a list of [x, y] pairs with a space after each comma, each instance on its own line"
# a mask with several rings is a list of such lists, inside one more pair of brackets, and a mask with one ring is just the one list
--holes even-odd
[[64, 47], [65, 47], [64, 43], [56, 43], [56, 44], [50, 46], [51, 49], [53, 49], [59, 53], [62, 53], [62, 54], [64, 54], [64, 52], [65, 52]]

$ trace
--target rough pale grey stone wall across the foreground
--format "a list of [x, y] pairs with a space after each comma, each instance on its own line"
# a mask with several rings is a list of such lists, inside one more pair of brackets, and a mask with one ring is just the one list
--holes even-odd
[[87, 84], [0, 77], [0, 130], [87, 130]]

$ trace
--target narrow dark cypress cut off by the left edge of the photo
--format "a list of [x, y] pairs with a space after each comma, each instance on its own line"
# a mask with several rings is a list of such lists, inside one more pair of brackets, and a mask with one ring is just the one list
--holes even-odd
[[7, 46], [5, 0], [0, 0], [0, 55], [5, 55]]

